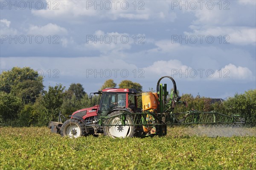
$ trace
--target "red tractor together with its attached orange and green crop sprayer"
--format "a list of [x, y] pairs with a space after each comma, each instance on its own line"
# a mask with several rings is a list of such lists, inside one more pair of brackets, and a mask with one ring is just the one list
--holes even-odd
[[[160, 84], [163, 78], [169, 78], [173, 83], [170, 95], [167, 84]], [[98, 105], [73, 112], [63, 124], [60, 113], [58, 122], [49, 123], [51, 131], [70, 138], [100, 133], [116, 138], [143, 134], [163, 136], [167, 134], [167, 126], [182, 124], [244, 124], [244, 118], [239, 115], [196, 110], [175, 112], [176, 105], [188, 105], [186, 101], [180, 101], [176, 83], [170, 76], [158, 80], [157, 92], [138, 95], [136, 89], [106, 88], [94, 94], [99, 94]], [[138, 108], [139, 97], [142, 108]]]

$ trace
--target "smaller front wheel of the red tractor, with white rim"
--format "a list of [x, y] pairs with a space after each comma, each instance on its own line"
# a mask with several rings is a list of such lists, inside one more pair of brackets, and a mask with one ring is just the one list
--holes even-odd
[[84, 136], [84, 128], [81, 121], [77, 119], [68, 119], [61, 126], [61, 136], [68, 136], [70, 138], [78, 138]]

